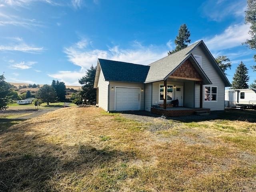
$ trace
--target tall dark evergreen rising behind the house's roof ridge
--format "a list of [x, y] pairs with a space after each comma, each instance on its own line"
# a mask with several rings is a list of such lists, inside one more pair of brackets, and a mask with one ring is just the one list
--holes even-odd
[[176, 36], [176, 39], [174, 40], [174, 43], [176, 44], [176, 48], [172, 51], [169, 51], [168, 55], [186, 48], [188, 46], [188, 43], [190, 43], [191, 41], [189, 37], [190, 37], [190, 32], [186, 24], [182, 24], [180, 26], [178, 36]]

